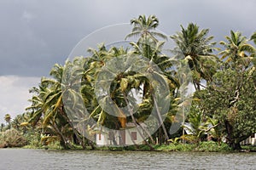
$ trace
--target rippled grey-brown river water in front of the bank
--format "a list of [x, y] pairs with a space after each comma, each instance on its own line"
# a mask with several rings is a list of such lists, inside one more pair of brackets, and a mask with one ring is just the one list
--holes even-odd
[[256, 153], [1, 149], [0, 169], [256, 169]]

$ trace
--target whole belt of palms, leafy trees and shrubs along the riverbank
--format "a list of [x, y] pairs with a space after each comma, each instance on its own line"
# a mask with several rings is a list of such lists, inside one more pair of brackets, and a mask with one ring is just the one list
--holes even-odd
[[[148, 18], [140, 15], [137, 19], [131, 20], [132, 31], [124, 37], [137, 37], [137, 42], [131, 42], [130, 47], [107, 48], [104, 44], [99, 44], [97, 49], [88, 49], [91, 55], [86, 58], [67, 60], [65, 65], [55, 64], [49, 72], [51, 78], [42, 77], [38, 87], [30, 90], [34, 95], [30, 99], [32, 105], [27, 108], [27, 112], [16, 116], [13, 121], [9, 114], [5, 116], [7, 124], [6, 127], [4, 124], [1, 125], [3, 133], [0, 139], [3, 140], [3, 136], [7, 138], [9, 131], [13, 129], [13, 133], [22, 144], [42, 146], [42, 144], [58, 142], [65, 149], [78, 145], [84, 149], [87, 146], [94, 149], [95, 144], [88, 139], [88, 136], [85, 138], [70, 117], [74, 105], [76, 105], [76, 113], [73, 114], [72, 119], [76, 119], [78, 115], [85, 117], [82, 106], [81, 108], [79, 106], [82, 102], [90, 118], [96, 122], [91, 124], [84, 120], [85, 125], [90, 124], [87, 130], [90, 134], [87, 135], [93, 136], [95, 133], [91, 128], [93, 126], [102, 125], [120, 129], [125, 127], [126, 122], [139, 125], [148, 118], [148, 113], [155, 106], [157, 107], [155, 116], [160, 127], [145, 141], [149, 148], [161, 150], [152, 147], [157, 139], [159, 144], [172, 143], [170, 150], [173, 145], [181, 141], [194, 144], [186, 145], [188, 148], [194, 146], [197, 148], [201, 144], [204, 144], [202, 147], [207, 148], [207, 143], [203, 141], [211, 139], [219, 147], [226, 147], [223, 145], [225, 142], [231, 149], [240, 150], [240, 142], [252, 133], [256, 133], [256, 49], [253, 43], [249, 43], [251, 40], [256, 43], [256, 33], [249, 40], [239, 31], [230, 31], [230, 37], [225, 37], [225, 42], [219, 42], [221, 48], [216, 48], [217, 43], [212, 42], [212, 36], [208, 36], [209, 29], [200, 29], [199, 26], [189, 23], [186, 28], [181, 26], [181, 31], [175, 35], [166, 37], [156, 31], [158, 25], [159, 20], [154, 15]], [[176, 43], [176, 47], [170, 49], [172, 56], [166, 55], [163, 50], [167, 40]], [[155, 82], [149, 81], [142, 73], [124, 71], [118, 73], [113, 81], [111, 80], [109, 96], [98, 99], [95, 94], [96, 77], [104, 76], [102, 68], [112, 59], [118, 59], [120, 55], [126, 56], [122, 67], [127, 65], [129, 67], [129, 59], [136, 55], [147, 58], [148, 75], [150, 77], [157, 75], [160, 80], [167, 82], [169, 89], [167, 96], [154, 93], [154, 90], [159, 90], [154, 88]], [[181, 88], [183, 82], [179, 81], [174, 59], [189, 65], [192, 72], [193, 79], [190, 83], [195, 87], [195, 94], [190, 110], [186, 110], [188, 116], [184, 120], [191, 125], [189, 134], [183, 133], [182, 123], [176, 133], [170, 134], [168, 131], [177, 121], [175, 116], [177, 111], [185, 105], [177, 90]], [[140, 63], [136, 65], [139, 66]], [[154, 65], [157, 65], [160, 71], [154, 69]], [[68, 77], [68, 80], [65, 80], [65, 77]], [[110, 81], [108, 77], [105, 79], [106, 82]], [[123, 111], [115, 110], [113, 116], [102, 109], [109, 105], [109, 99], [112, 99], [114, 105], [121, 107], [129, 105], [127, 99], [131, 98], [129, 96], [131, 89], [142, 93], [142, 102], [134, 114], [124, 116]], [[167, 97], [170, 106], [163, 116], [158, 111], [162, 106], [157, 100]], [[67, 105], [68, 101], [69, 105]], [[162, 117], [165, 119], [161, 119]], [[17, 133], [20, 133], [21, 137]]]

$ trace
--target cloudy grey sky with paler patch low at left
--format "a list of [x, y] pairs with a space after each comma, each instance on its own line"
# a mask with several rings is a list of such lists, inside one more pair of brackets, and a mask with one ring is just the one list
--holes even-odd
[[0, 122], [7, 113], [23, 113], [30, 105], [29, 88], [97, 29], [155, 14], [167, 35], [194, 22], [219, 42], [230, 30], [250, 37], [256, 31], [255, 7], [254, 0], [1, 0]]

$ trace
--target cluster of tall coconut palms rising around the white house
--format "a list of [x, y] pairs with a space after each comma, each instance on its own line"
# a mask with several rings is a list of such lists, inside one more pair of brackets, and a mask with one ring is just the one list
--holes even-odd
[[[107, 48], [99, 44], [97, 49], [88, 49], [90, 57], [67, 60], [65, 65], [55, 64], [49, 72], [51, 78], [43, 77], [39, 86], [31, 89], [34, 95], [30, 99], [32, 105], [27, 108], [29, 118], [21, 123], [22, 126], [36, 127], [44, 144], [57, 140], [64, 148], [72, 148], [73, 144], [83, 147], [90, 144], [94, 147], [90, 140], [95, 133], [94, 127], [120, 129], [125, 128], [126, 122], [140, 126], [155, 110], [153, 117], [158, 129], [148, 133], [146, 142], [154, 144], [158, 139], [160, 143], [165, 143], [175, 135], [181, 135], [180, 131], [174, 135], [168, 132], [172, 123], [176, 122], [176, 112], [183, 102], [177, 93], [183, 83], [177, 77], [177, 59], [189, 65], [193, 78], [191, 83], [196, 91], [207, 86], [202, 83], [203, 80], [211, 83], [222, 62], [227, 67], [246, 65], [245, 69], [252, 65], [255, 48], [247, 43], [246, 37], [242, 37], [240, 32], [231, 31], [230, 37], [226, 37], [227, 42], [220, 42], [224, 51], [219, 53], [219, 59], [218, 54], [214, 53], [219, 49], [215, 48], [213, 37], [208, 37], [208, 29], [200, 30], [199, 26], [189, 23], [187, 28], [181, 26], [181, 31], [167, 37], [156, 30], [158, 25], [159, 20], [154, 15], [148, 18], [140, 15], [131, 20], [132, 31], [125, 37], [137, 37], [137, 42], [131, 42], [131, 47]], [[255, 37], [254, 33], [254, 42]], [[176, 43], [176, 47], [171, 49], [173, 58], [163, 53], [164, 44], [169, 38]], [[115, 65], [114, 59], [121, 59], [123, 65]], [[145, 63], [147, 66], [141, 72], [131, 70], [131, 65], [139, 67]], [[113, 71], [119, 67], [122, 67], [121, 72]], [[99, 82], [99, 77], [104, 81]], [[162, 92], [155, 84], [168, 90]], [[131, 95], [132, 90], [140, 93], [140, 104], [137, 103], [138, 97]], [[167, 110], [164, 104], [167, 104]], [[108, 105], [111, 105], [111, 114], [106, 111]], [[135, 105], [137, 111], [133, 113]], [[127, 108], [127, 111], [119, 108]], [[189, 116], [189, 120], [195, 124], [196, 121], [203, 122], [202, 116]], [[214, 123], [215, 128], [218, 122]]]

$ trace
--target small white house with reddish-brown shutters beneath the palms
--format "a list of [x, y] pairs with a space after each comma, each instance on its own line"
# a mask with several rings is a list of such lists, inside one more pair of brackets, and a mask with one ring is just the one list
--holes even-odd
[[[141, 126], [145, 127], [142, 123]], [[126, 123], [126, 127], [120, 130], [112, 130], [100, 127], [96, 133], [97, 145], [131, 145], [143, 144], [144, 133], [142, 127], [137, 127], [134, 123]]]

